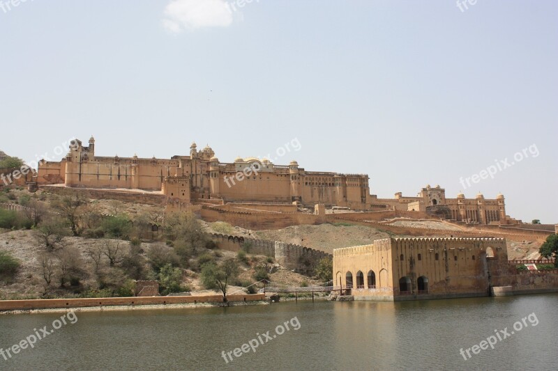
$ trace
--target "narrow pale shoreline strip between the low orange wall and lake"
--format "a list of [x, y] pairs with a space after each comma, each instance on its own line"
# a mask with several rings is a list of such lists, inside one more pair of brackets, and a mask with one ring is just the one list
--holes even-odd
[[[229, 301], [228, 306], [265, 306], [268, 301]], [[25, 315], [42, 313], [68, 313], [68, 312], [118, 312], [124, 310], [159, 310], [159, 309], [195, 309], [195, 308], [226, 308], [223, 303], [174, 303], [174, 304], [140, 304], [126, 306], [86, 306], [73, 308], [40, 308], [40, 309], [14, 309], [1, 310], [0, 315]]]

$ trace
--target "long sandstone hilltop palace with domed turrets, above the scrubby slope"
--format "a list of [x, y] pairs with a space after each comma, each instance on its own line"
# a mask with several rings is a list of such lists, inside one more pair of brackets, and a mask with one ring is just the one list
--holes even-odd
[[40, 161], [38, 184], [65, 184], [66, 187], [91, 189], [138, 189], [156, 191], [169, 200], [190, 203], [197, 200], [222, 200], [223, 203], [296, 204], [314, 208], [356, 211], [405, 210], [439, 214], [445, 219], [467, 223], [513, 223], [506, 216], [504, 196], [474, 199], [459, 194], [446, 198], [441, 187], [427, 186], [416, 197], [377, 198], [370, 195], [365, 174], [340, 174], [306, 171], [296, 161], [276, 165], [269, 159], [236, 158], [220, 162], [208, 146], [190, 155], [170, 159], [100, 157], [95, 155], [95, 139], [85, 146], [75, 139], [61, 161]]

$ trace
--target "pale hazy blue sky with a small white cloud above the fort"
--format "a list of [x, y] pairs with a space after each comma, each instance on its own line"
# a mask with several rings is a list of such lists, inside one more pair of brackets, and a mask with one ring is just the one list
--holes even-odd
[[558, 222], [557, 1], [15, 3], [0, 2], [9, 155], [196, 141], [223, 162], [368, 173], [379, 197], [502, 191], [511, 216]]

